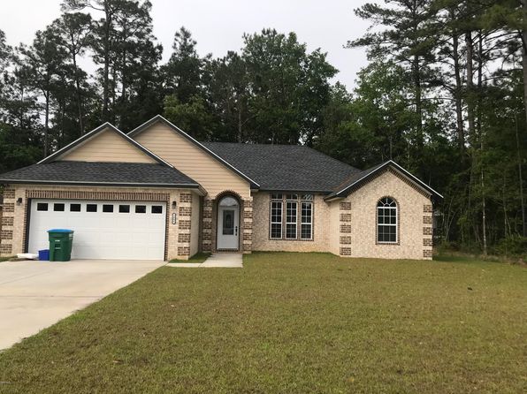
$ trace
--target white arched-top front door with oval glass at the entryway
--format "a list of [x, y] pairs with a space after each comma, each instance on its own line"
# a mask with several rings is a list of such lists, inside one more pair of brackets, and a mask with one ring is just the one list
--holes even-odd
[[240, 245], [240, 205], [232, 197], [218, 204], [218, 249], [238, 250]]

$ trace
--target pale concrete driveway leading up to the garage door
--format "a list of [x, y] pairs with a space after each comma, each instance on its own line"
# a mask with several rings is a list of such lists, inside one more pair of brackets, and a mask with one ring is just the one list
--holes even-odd
[[0, 349], [163, 265], [164, 261], [0, 262]]

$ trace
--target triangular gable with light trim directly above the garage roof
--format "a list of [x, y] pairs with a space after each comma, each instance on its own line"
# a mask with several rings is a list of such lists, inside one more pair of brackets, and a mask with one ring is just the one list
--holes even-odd
[[110, 123], [105, 123], [57, 150], [41, 163], [55, 161], [99, 163], [161, 163], [172, 167]]

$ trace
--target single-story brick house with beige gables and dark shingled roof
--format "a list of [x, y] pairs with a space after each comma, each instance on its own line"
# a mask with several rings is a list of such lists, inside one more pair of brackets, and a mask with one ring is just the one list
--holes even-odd
[[73, 258], [169, 260], [216, 251], [432, 258], [441, 196], [392, 161], [369, 170], [311, 148], [201, 143], [157, 116], [106, 123], [0, 175], [0, 254], [75, 231]]

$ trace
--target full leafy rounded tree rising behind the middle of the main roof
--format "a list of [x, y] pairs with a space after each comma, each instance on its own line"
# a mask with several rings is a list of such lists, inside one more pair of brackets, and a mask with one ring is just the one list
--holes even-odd
[[329, 80], [337, 70], [320, 49], [308, 53], [294, 33], [264, 29], [245, 34], [244, 44], [241, 57], [254, 117], [250, 140], [311, 144], [321, 133], [321, 111], [329, 102]]

